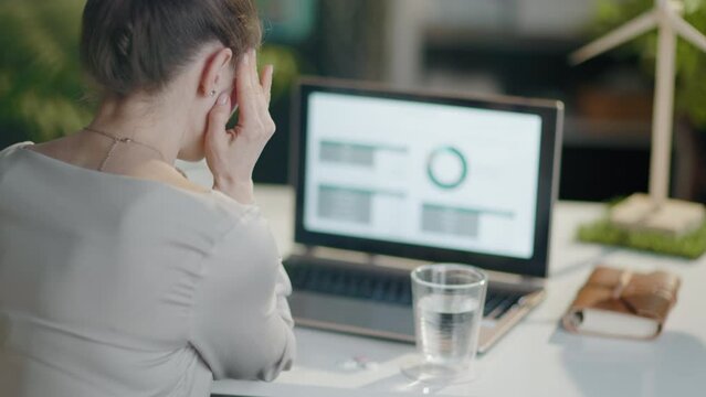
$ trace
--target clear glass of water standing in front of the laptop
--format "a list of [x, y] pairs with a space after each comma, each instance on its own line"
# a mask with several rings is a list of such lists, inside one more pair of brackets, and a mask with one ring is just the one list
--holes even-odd
[[415, 380], [472, 379], [487, 277], [456, 264], [421, 266], [412, 271], [417, 350], [421, 363], [403, 368]]

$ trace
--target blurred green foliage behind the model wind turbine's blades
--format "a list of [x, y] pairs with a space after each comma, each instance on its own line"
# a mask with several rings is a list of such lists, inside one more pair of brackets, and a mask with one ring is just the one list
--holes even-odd
[[[684, 19], [706, 33], [706, 1], [683, 0]], [[601, 0], [598, 7], [596, 33], [617, 28], [654, 7], [654, 0]], [[628, 44], [626, 50], [640, 54], [644, 69], [654, 75], [656, 32], [651, 32]], [[706, 54], [679, 40], [677, 45], [676, 110], [688, 117], [697, 128], [706, 128]]]

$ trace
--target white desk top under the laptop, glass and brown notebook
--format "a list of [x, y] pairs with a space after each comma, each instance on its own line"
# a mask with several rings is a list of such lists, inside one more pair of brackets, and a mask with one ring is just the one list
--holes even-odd
[[[257, 186], [260, 206], [283, 254], [293, 246], [293, 192]], [[414, 346], [296, 329], [294, 368], [272, 384], [217, 382], [214, 394], [236, 396], [706, 396], [706, 258], [686, 261], [573, 240], [576, 226], [597, 217], [597, 204], [560, 203], [552, 227], [547, 300], [476, 361], [477, 378], [445, 388], [415, 385], [399, 372]], [[654, 342], [568, 334], [558, 328], [593, 265], [662, 268], [682, 277], [678, 303]], [[373, 362], [345, 369], [352, 357]]]

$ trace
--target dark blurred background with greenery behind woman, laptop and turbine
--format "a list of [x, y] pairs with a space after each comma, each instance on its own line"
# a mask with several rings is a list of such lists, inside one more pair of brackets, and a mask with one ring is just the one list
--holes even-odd
[[[0, 149], [89, 121], [77, 36], [85, 0], [0, 0]], [[654, 74], [647, 34], [571, 66], [568, 54], [653, 0], [257, 0], [261, 62], [275, 65], [278, 129], [255, 182], [286, 183], [292, 85], [301, 75], [402, 88], [560, 99], [560, 198], [646, 191]], [[703, 0], [683, 0], [706, 31]], [[706, 201], [706, 56], [679, 43], [672, 194]]]

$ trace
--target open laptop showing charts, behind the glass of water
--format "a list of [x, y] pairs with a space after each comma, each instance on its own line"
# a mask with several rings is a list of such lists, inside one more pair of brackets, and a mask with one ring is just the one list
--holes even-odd
[[563, 106], [303, 79], [294, 104], [297, 325], [414, 342], [410, 270], [489, 276], [478, 351], [545, 297]]

